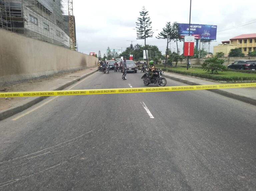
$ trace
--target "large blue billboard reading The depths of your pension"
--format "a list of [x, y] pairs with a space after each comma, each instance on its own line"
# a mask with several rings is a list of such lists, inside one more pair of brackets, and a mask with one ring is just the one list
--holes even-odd
[[[180, 35], [188, 36], [189, 24], [179, 23]], [[190, 36], [195, 39], [216, 40], [217, 25], [190, 24]]]

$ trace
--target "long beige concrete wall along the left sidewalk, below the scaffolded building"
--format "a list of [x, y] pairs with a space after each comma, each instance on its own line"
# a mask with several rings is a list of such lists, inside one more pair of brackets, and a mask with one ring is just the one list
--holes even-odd
[[0, 29], [0, 84], [79, 70], [98, 58]]

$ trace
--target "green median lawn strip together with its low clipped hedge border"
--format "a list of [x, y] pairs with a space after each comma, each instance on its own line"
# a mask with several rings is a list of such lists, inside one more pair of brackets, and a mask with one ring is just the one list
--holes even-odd
[[219, 71], [219, 74], [208, 74], [201, 68], [189, 68], [186, 67], [166, 67], [163, 65], [157, 65], [157, 68], [161, 68], [163, 71], [173, 72], [178, 74], [190, 75], [200, 78], [207, 78], [216, 81], [255, 81], [255, 73], [244, 73], [235, 71]]

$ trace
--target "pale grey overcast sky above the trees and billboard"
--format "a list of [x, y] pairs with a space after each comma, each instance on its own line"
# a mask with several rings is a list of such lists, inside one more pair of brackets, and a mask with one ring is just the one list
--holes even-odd
[[[167, 3], [167, 4], [166, 4]], [[241, 34], [256, 33], [255, 0], [192, 0], [191, 23], [217, 25], [217, 42], [211, 42], [210, 51], [213, 46], [221, 44], [221, 41], [229, 40]], [[111, 49], [121, 49], [133, 44], [143, 45], [143, 40], [136, 40], [137, 18], [139, 11], [145, 6], [152, 21], [154, 31], [153, 38], [148, 38], [146, 43], [156, 45], [160, 51], [165, 52], [166, 40], [158, 40], [155, 37], [165, 27], [166, 22], [189, 23], [190, 0], [183, 1], [145, 1], [145, 0], [110, 0], [110, 1], [85, 1], [73, 0], [73, 12], [76, 19], [76, 35], [78, 50], [89, 54], [89, 52], [106, 52]], [[218, 32], [241, 24], [249, 25]], [[175, 48], [172, 43], [172, 51]], [[182, 51], [183, 45], [179, 48]], [[177, 51], [177, 48], [175, 49]]]

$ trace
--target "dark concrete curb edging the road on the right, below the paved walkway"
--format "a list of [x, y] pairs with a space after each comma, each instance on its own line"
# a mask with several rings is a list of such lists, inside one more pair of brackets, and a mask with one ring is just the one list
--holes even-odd
[[[178, 82], [188, 84], [188, 85], [202, 85], [202, 84], [198, 84], [198, 83], [191, 82], [191, 81], [188, 81], [188, 80], [176, 78], [176, 77], [173, 77], [173, 76], [168, 76], [168, 75], [163, 75], [163, 76], [166, 77], [166, 78], [178, 81]], [[226, 92], [226, 91], [223, 91], [223, 90], [220, 90], [220, 89], [209, 89], [207, 91], [211, 91], [211, 92], [214, 92], [214, 93], [217, 93], [217, 94], [220, 94], [220, 95], [223, 95], [223, 96], [226, 96], [226, 97], [229, 97], [229, 98], [233, 98], [233, 99], [236, 99], [236, 100], [239, 100], [239, 101], [249, 103], [249, 104], [252, 104], [252, 105], [256, 106], [256, 100], [252, 99], [252, 98], [236, 95], [236, 94]]]

